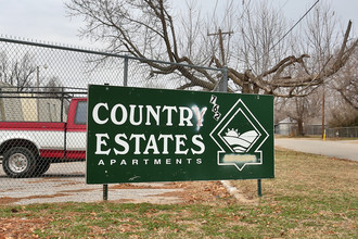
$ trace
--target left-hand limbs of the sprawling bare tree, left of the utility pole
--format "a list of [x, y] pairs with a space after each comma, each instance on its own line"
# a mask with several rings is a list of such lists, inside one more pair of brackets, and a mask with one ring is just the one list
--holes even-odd
[[101, 40], [108, 45], [106, 51], [129, 53], [143, 59], [150, 65], [152, 74], [171, 74], [179, 72], [188, 78], [182, 88], [200, 86], [214, 89], [216, 78], [206, 71], [195, 73], [180, 65], [162, 65], [144, 61], [157, 59], [176, 63], [193, 64], [187, 55], [180, 55], [174, 17], [167, 1], [95, 1], [73, 0], [67, 4], [72, 15], [85, 16], [86, 28], [80, 33], [85, 37]]

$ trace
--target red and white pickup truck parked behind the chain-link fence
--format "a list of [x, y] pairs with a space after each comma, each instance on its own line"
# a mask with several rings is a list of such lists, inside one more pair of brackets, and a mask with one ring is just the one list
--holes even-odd
[[67, 122], [0, 122], [0, 159], [9, 177], [44, 174], [51, 163], [85, 161], [87, 99], [71, 101]]

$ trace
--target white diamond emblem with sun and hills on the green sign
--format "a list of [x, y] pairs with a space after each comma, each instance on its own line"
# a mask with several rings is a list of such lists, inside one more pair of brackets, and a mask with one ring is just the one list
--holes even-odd
[[269, 134], [239, 99], [210, 133], [220, 148], [218, 165], [233, 165], [242, 171], [246, 165], [263, 164], [261, 144]]

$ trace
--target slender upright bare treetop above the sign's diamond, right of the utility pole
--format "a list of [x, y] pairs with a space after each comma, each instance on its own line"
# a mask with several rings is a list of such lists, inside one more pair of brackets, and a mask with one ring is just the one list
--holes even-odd
[[286, 28], [284, 17], [267, 1], [244, 3], [238, 26], [236, 58], [252, 74], [267, 72], [286, 54], [287, 47], [281, 40]]

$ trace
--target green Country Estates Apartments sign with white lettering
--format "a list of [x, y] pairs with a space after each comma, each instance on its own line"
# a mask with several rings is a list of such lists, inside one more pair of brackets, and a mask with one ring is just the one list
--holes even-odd
[[273, 176], [272, 96], [89, 86], [88, 184]]

